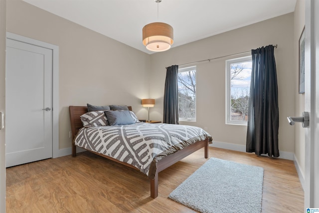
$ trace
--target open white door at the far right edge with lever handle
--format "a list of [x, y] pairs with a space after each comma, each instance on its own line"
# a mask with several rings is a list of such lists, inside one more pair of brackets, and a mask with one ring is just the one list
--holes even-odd
[[319, 1], [306, 0], [305, 110], [305, 210], [319, 208]]

